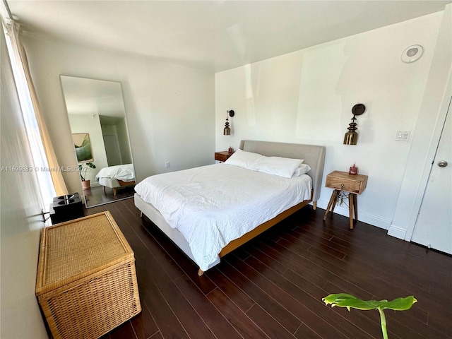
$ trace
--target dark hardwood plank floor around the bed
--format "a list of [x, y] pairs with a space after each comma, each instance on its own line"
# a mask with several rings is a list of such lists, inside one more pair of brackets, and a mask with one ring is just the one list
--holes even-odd
[[389, 237], [385, 230], [311, 206], [198, 268], [133, 198], [109, 210], [133, 248], [143, 311], [111, 338], [382, 338], [378, 311], [327, 307], [347, 292], [362, 299], [414, 295], [408, 311], [386, 310], [389, 338], [452, 338], [452, 257]]

